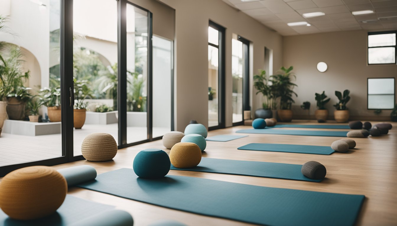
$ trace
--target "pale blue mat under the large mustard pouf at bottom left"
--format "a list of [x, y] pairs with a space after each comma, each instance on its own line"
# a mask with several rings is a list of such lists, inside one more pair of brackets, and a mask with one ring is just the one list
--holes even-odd
[[56, 213], [37, 220], [14, 220], [0, 210], [0, 225], [4, 226], [67, 226], [93, 215], [114, 209], [113, 206], [67, 195]]

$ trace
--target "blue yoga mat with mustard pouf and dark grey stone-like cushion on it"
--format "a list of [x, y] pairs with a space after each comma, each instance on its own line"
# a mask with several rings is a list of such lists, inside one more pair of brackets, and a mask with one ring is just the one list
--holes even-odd
[[182, 171], [196, 171], [205, 173], [223, 173], [252, 177], [269, 177], [287, 180], [304, 180], [320, 182], [305, 177], [302, 165], [262, 161], [240, 161], [216, 158], [202, 158], [200, 164], [192, 168], [177, 168], [171, 164], [171, 169]]

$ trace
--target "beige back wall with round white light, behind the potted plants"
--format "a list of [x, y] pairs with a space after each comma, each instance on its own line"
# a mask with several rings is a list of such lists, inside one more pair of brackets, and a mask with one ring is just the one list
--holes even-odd
[[[324, 61], [328, 70], [318, 72], [316, 65]], [[283, 37], [283, 63], [294, 66], [298, 85], [298, 98], [293, 105], [294, 118], [307, 117], [299, 107], [310, 101], [311, 115], [316, 110], [314, 93], [325, 91], [331, 101], [326, 105], [333, 115], [337, 102], [335, 90], [349, 89], [351, 100], [347, 104], [351, 120], [387, 120], [391, 110], [375, 116], [367, 110], [367, 78], [397, 77], [397, 65], [367, 66], [367, 31], [353, 30]], [[333, 118], [333, 117], [331, 117]]]

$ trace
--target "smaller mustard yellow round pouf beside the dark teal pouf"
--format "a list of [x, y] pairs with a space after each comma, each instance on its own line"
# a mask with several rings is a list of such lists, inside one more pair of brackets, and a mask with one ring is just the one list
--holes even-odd
[[195, 143], [176, 143], [171, 148], [170, 161], [177, 168], [195, 167], [201, 161], [201, 150]]

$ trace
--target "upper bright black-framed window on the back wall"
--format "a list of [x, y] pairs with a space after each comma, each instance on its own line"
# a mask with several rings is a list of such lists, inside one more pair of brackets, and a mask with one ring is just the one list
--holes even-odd
[[396, 63], [396, 31], [368, 33], [368, 65]]

